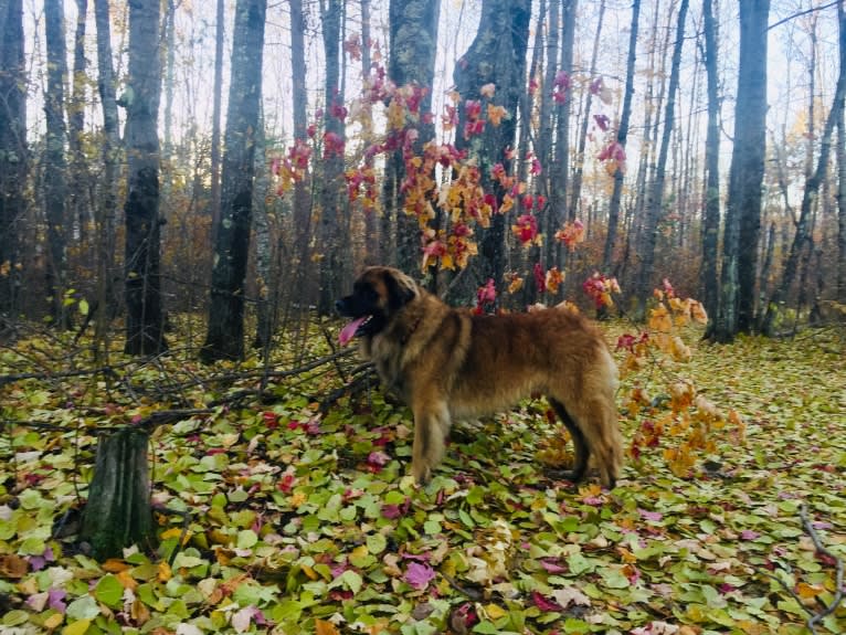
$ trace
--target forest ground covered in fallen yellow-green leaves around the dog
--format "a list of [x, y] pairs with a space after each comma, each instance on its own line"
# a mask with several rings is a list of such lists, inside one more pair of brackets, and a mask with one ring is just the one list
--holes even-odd
[[[321, 411], [340, 362], [258, 401], [258, 362], [214, 382], [178, 352], [25, 379], [67, 370], [63, 342], [2, 348], [0, 632], [844, 633], [843, 330], [698, 335], [690, 361], [625, 375], [633, 447], [612, 491], [549, 476], [567, 440], [542, 400], [456, 426], [417, 488], [404, 408], [373, 389]], [[679, 380], [704, 400], [679, 404]], [[95, 561], [74, 527], [97, 433], [207, 408], [152, 435], [159, 544]]]

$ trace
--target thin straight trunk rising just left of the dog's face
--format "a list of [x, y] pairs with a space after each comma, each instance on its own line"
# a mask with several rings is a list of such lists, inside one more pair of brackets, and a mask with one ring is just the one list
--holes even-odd
[[[343, 7], [340, 0], [320, 2], [326, 78], [324, 84], [324, 159], [320, 182], [320, 293], [317, 311], [321, 316], [335, 311], [335, 300], [341, 295], [339, 271], [341, 267], [340, 218], [341, 189], [343, 188], [343, 139], [345, 129], [340, 116], [335, 112], [343, 105], [340, 73], [340, 31]], [[336, 141], [326, 145], [326, 140]], [[340, 147], [339, 147], [340, 146]]]

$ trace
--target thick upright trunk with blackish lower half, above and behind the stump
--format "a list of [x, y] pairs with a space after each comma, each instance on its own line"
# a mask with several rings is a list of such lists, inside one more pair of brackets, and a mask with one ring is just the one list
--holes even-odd
[[159, 271], [159, 4], [129, 1], [129, 77], [126, 108], [129, 191], [126, 214], [127, 354], [156, 354], [167, 348]]

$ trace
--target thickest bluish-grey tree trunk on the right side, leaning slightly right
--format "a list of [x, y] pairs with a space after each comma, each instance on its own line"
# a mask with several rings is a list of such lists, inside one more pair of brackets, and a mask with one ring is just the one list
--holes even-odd
[[[729, 197], [722, 239], [722, 272], [717, 318], [709, 337], [729, 342], [751, 326], [749, 310], [761, 223], [761, 183], [766, 149], [766, 21], [769, 0], [740, 4], [740, 61], [734, 107], [734, 146], [729, 168]], [[751, 267], [751, 272], [744, 268]], [[741, 272], [743, 272], [741, 279]], [[750, 297], [741, 296], [748, 293]], [[741, 310], [745, 311], [743, 319]]]

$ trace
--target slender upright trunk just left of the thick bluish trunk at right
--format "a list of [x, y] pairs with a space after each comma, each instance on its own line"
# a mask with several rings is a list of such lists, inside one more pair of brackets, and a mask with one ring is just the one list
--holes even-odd
[[705, 72], [708, 78], [708, 131], [705, 140], [705, 216], [702, 219], [702, 304], [708, 319], [713, 322], [719, 301], [718, 243], [720, 234], [720, 102], [717, 77], [717, 24], [712, 0], [702, 7], [705, 25]]

